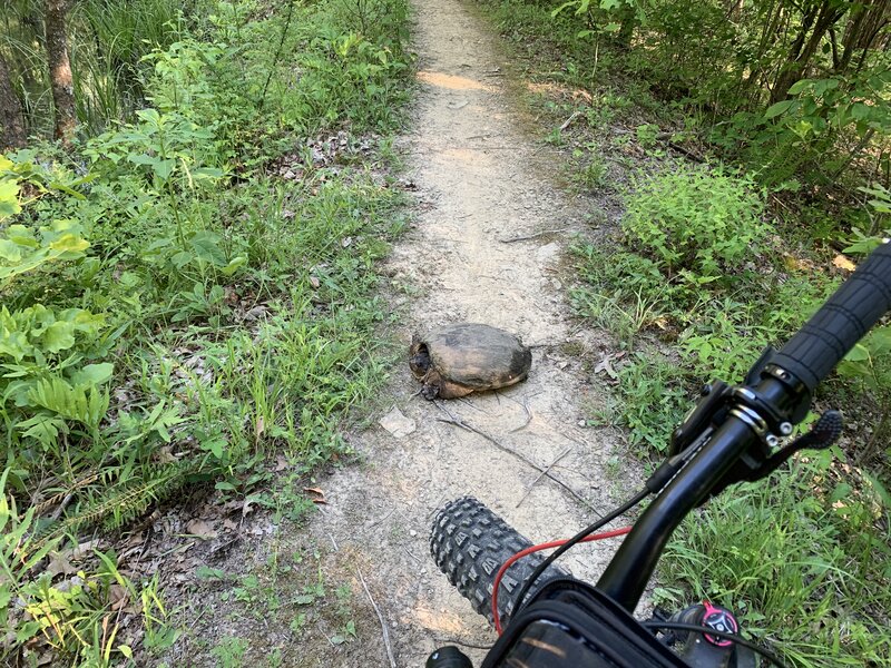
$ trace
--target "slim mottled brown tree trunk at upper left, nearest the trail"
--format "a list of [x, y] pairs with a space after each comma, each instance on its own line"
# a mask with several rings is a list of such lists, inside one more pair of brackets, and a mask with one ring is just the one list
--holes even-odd
[[70, 144], [75, 135], [75, 85], [68, 59], [66, 14], [69, 0], [46, 0], [47, 58], [49, 62], [52, 106], [56, 110], [56, 138]]

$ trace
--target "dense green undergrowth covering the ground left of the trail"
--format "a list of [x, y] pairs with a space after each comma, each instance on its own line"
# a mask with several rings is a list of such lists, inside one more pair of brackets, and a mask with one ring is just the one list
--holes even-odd
[[297, 472], [349, 452], [340, 418], [382, 376], [404, 4], [218, 2], [144, 32], [156, 4], [79, 6], [137, 66], [141, 108], [71, 153], [0, 157], [4, 661], [130, 657], [101, 626], [115, 583], [141, 601], [145, 648], [170, 640], [157, 583], [134, 589], [114, 554], [65, 590], [31, 569], [186, 483], [249, 493], [272, 451]]

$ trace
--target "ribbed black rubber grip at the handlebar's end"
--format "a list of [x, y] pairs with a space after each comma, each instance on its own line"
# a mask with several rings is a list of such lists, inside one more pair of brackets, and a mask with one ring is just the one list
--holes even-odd
[[891, 244], [882, 244], [771, 360], [813, 394], [816, 385], [891, 308]]

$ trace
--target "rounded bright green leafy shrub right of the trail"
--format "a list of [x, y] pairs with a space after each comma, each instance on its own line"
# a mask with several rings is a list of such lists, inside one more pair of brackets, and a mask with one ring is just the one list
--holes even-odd
[[740, 269], [768, 230], [754, 181], [723, 168], [677, 166], [638, 177], [626, 204], [627, 244], [643, 246], [669, 276], [683, 269], [706, 277]]

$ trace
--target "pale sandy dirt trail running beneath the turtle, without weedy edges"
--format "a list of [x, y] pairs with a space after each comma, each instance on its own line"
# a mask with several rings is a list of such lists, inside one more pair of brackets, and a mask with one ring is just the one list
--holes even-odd
[[[368, 464], [325, 481], [329, 504], [312, 531], [320, 544], [362, 546], [356, 559], [390, 625], [400, 667], [422, 666], [444, 639], [493, 638], [429, 556], [431, 517], [443, 502], [473, 494], [538, 540], [575, 533], [594, 517], [546, 479], [527, 495], [539, 472], [478, 434], [438, 421], [444, 411], [540, 465], [568, 450], [554, 470], [596, 508], [611, 505], [616, 485], [601, 472], [609, 444], [579, 426], [590, 385], [576, 353], [598, 342], [574, 325], [557, 271], [565, 240], [581, 228], [579, 212], [548, 181], [546, 151], [519, 129], [492, 38], [456, 0], [414, 6], [421, 86], [407, 143], [420, 213], [388, 273], [421, 294], [404, 297], [410, 318], [400, 337], [408, 348], [413, 331], [471, 321], [515, 332], [535, 348], [527, 382], [450, 402], [415, 395], [404, 365], [392, 383], [392, 403], [417, 430], [395, 439], [370, 429], [358, 442]], [[567, 232], [503, 243], [552, 229]], [[582, 548], [566, 563], [590, 576], [605, 553]], [[383, 641], [373, 627], [366, 630], [368, 665], [388, 665]]]

